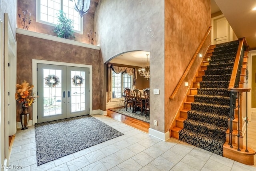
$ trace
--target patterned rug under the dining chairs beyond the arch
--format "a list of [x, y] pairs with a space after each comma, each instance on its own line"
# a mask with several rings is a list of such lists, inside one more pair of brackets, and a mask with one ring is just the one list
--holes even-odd
[[139, 119], [141, 121], [145, 121], [145, 122], [149, 123], [149, 115], [147, 114], [147, 116], [145, 116], [144, 111], [141, 115], [140, 111], [136, 111], [136, 113], [132, 113], [132, 109], [130, 109], [130, 107], [127, 108], [127, 111], [126, 111], [126, 108], [124, 108], [124, 107], [114, 108], [114, 109], [109, 109], [109, 110], [112, 110], [112, 111], [115, 111], [115, 112], [120, 113], [122, 115], [133, 117], [135, 119]]

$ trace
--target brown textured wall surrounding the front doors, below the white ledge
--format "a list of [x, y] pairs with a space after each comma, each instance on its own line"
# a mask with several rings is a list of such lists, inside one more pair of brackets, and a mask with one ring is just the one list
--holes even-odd
[[[103, 62], [99, 50], [54, 42], [22, 34], [17, 40], [17, 84], [24, 80], [32, 84], [32, 59], [92, 65], [92, 109], [103, 109]], [[32, 107], [29, 109], [32, 119]], [[20, 121], [17, 104], [17, 122]]]

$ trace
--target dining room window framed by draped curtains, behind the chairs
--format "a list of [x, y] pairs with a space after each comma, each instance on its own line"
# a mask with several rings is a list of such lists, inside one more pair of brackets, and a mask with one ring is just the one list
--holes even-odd
[[112, 99], [122, 98], [126, 87], [132, 88], [132, 76], [112, 71]]

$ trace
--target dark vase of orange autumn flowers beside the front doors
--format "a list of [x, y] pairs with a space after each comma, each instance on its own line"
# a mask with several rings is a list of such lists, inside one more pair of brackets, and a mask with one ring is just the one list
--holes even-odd
[[15, 99], [22, 104], [22, 113], [20, 113], [20, 122], [22, 129], [28, 129], [29, 113], [27, 109], [34, 103], [35, 98], [32, 95], [34, 85], [29, 85], [26, 80], [22, 84], [16, 84]]

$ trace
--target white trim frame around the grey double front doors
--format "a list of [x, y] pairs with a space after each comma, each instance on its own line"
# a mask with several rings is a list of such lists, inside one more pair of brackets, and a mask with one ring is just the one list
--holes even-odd
[[[32, 84], [34, 85], [33, 93], [37, 94], [37, 64], [50, 64], [50, 65], [59, 65], [59, 66], [74, 66], [81, 68], [89, 68], [89, 115], [92, 115], [92, 65], [85, 64], [73, 64], [66, 62], [55, 62], [55, 61], [46, 61], [46, 60], [32, 60]], [[37, 123], [37, 100], [33, 104], [33, 125]]]

